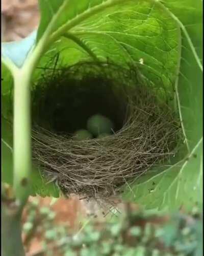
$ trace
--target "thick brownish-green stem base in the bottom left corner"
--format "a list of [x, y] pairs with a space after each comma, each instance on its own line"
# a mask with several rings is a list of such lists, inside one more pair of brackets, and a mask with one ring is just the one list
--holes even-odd
[[24, 248], [21, 239], [21, 211], [15, 207], [2, 203], [2, 255], [24, 256]]

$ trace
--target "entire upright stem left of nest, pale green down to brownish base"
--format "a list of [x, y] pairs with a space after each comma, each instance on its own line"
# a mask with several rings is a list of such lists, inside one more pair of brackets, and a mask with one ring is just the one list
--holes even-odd
[[24, 256], [21, 214], [27, 202], [32, 169], [30, 67], [15, 70], [13, 119], [13, 188], [15, 201], [2, 203], [2, 253]]

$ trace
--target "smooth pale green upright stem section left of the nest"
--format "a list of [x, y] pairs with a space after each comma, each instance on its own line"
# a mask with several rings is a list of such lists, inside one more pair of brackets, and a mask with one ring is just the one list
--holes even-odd
[[20, 205], [29, 195], [31, 173], [31, 72], [27, 68], [14, 74], [13, 163], [14, 191]]

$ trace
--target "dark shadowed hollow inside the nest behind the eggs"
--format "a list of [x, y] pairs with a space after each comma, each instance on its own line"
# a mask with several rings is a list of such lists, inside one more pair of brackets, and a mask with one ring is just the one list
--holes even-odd
[[122, 128], [126, 103], [115, 95], [109, 79], [69, 79], [61, 81], [60, 86], [54, 82], [43, 95], [38, 102], [38, 120], [46, 120], [49, 130], [57, 134], [86, 129], [88, 118], [94, 114], [110, 118], [114, 132]]

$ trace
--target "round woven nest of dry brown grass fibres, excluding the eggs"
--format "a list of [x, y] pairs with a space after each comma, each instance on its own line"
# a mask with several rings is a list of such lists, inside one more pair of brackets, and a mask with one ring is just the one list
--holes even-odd
[[[141, 84], [136, 71], [111, 65], [80, 63], [52, 77], [47, 72], [33, 90], [34, 163], [66, 195], [117, 195], [123, 184], [175, 154], [178, 122], [156, 92], [164, 94]], [[94, 113], [112, 118], [113, 134], [74, 140], [71, 134]]]

